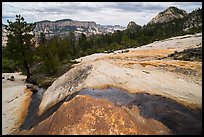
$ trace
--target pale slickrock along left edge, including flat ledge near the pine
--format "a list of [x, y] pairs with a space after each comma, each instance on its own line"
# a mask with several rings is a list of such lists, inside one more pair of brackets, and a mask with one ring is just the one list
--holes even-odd
[[[14, 76], [15, 81], [6, 80]], [[17, 130], [27, 116], [32, 92], [26, 89], [19, 73], [3, 73], [2, 77], [2, 134], [11, 134]]]

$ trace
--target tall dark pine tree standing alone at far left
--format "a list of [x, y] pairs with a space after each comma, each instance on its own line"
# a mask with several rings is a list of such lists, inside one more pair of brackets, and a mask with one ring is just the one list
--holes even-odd
[[[26, 71], [27, 79], [31, 76], [30, 64], [32, 63], [32, 49], [34, 35], [31, 34], [35, 23], [28, 24], [21, 15], [16, 15], [16, 21], [7, 21], [8, 42], [6, 53], [9, 58], [18, 62], [22, 70]], [[27, 80], [26, 79], [26, 80]]]

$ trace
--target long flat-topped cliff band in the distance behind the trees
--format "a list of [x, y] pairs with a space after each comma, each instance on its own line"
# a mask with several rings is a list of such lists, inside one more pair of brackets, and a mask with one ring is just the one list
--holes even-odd
[[36, 23], [34, 33], [37, 37], [40, 33], [45, 33], [46, 37], [59, 35], [61, 37], [67, 36], [69, 32], [74, 32], [76, 36], [84, 33], [86, 36], [94, 34], [114, 33], [116, 30], [124, 30], [126, 27], [120, 25], [100, 25], [95, 21], [74, 21], [71, 19], [62, 19], [56, 21], [39, 21]]

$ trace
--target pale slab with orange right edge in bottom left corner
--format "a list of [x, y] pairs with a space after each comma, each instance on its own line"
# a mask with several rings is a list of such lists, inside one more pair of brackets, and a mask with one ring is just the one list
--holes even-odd
[[[28, 114], [32, 92], [23, 85], [3, 89], [2, 134], [16, 131]], [[8, 92], [8, 93], [5, 93]]]

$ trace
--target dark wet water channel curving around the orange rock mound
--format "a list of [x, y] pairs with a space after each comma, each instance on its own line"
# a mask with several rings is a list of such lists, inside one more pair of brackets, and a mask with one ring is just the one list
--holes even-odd
[[69, 95], [61, 102], [54, 105], [42, 116], [38, 117], [36, 112], [42, 100], [44, 91], [33, 94], [29, 106], [29, 113], [20, 130], [28, 130], [54, 113], [64, 101], [69, 101], [77, 94], [87, 95], [93, 98], [108, 99], [116, 106], [124, 105], [131, 108], [137, 105], [141, 115], [146, 118], [153, 118], [166, 125], [173, 134], [194, 135], [202, 134], [202, 109], [190, 109], [174, 100], [147, 93], [131, 94], [126, 91], [107, 88], [92, 89], [86, 88]]

